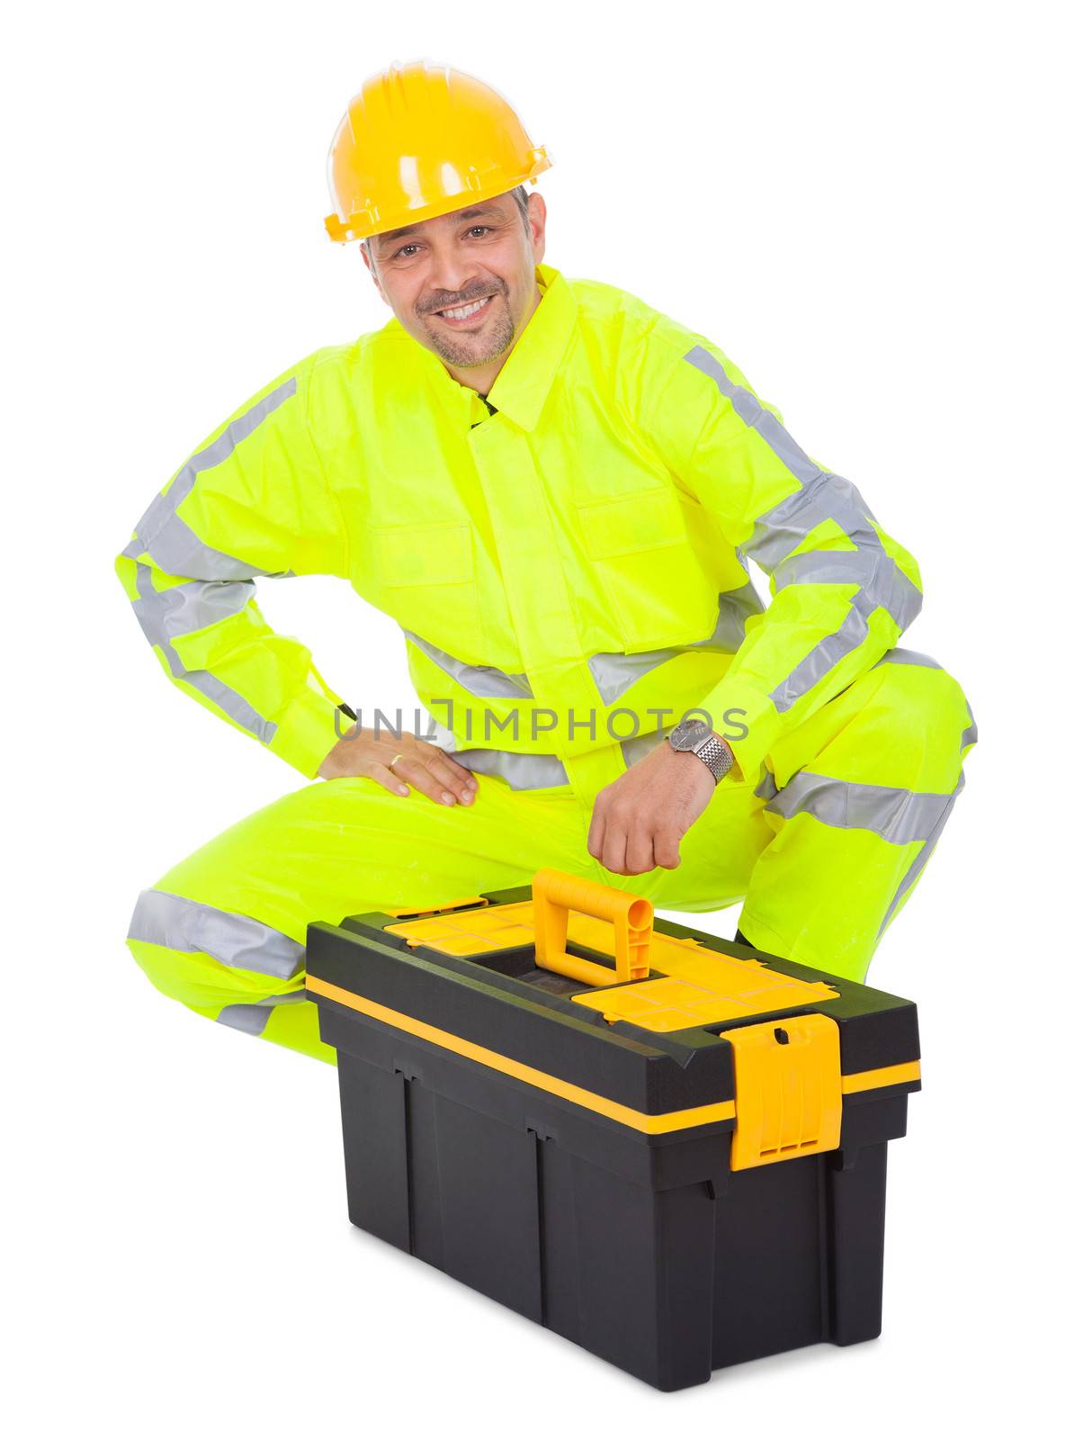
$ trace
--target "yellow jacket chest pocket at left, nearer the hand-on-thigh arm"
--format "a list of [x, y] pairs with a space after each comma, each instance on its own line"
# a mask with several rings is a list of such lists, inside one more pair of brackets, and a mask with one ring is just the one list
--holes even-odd
[[481, 664], [485, 636], [472, 527], [458, 520], [373, 526], [366, 539], [373, 603], [450, 655]]

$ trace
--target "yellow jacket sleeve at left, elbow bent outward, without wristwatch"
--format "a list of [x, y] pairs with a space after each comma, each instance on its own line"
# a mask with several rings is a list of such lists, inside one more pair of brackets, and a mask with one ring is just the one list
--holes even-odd
[[260, 576], [347, 575], [343, 516], [309, 429], [317, 353], [240, 406], [173, 475], [117, 556], [173, 683], [305, 776], [340, 734], [338, 696], [275, 634]]

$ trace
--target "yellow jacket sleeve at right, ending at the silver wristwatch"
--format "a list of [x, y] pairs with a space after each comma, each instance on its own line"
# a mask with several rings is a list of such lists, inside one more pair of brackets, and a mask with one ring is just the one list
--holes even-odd
[[921, 576], [855, 485], [791, 439], [727, 356], [682, 336], [648, 423], [740, 560], [768, 576], [770, 605], [699, 701], [750, 778], [783, 734], [898, 642], [921, 609]]

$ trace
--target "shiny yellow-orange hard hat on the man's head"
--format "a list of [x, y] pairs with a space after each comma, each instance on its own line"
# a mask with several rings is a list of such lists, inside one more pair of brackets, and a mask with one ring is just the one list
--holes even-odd
[[495, 89], [416, 60], [371, 76], [328, 153], [334, 240], [430, 220], [535, 180], [553, 161]]

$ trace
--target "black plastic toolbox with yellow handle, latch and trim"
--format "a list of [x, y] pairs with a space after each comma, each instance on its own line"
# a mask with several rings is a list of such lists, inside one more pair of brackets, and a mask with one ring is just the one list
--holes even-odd
[[662, 1390], [881, 1331], [915, 1007], [557, 870], [312, 924], [350, 1215]]

